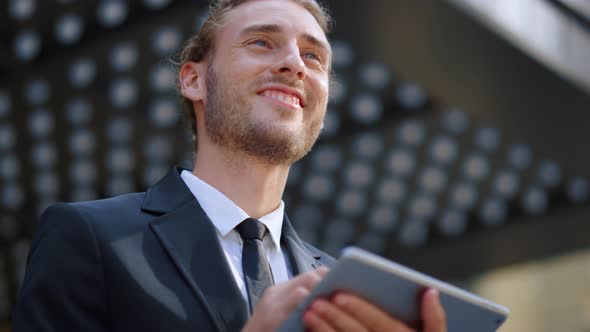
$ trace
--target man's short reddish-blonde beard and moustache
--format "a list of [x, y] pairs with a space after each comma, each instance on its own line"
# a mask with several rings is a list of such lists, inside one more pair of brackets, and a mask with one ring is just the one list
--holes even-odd
[[[289, 87], [297, 86], [284, 77], [253, 83], [260, 86], [269, 82]], [[241, 152], [268, 165], [292, 165], [311, 150], [320, 134], [325, 109], [318, 110], [323, 112], [322, 116], [314, 118], [301, 130], [286, 132], [273, 128], [271, 123], [255, 121], [251, 115], [256, 110], [245, 95], [240, 94], [230, 80], [217, 75], [213, 64], [209, 64], [207, 68], [206, 84], [206, 132], [214, 144], [228, 151]]]

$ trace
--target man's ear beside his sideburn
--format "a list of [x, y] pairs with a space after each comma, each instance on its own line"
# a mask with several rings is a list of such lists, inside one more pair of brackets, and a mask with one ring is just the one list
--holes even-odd
[[194, 103], [205, 103], [207, 98], [206, 74], [207, 64], [204, 61], [189, 61], [183, 64], [178, 74], [182, 95]]

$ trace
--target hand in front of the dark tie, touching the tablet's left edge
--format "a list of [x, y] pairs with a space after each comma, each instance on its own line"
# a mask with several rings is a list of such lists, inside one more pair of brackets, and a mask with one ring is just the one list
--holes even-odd
[[242, 332], [276, 331], [326, 273], [322, 266], [267, 288]]

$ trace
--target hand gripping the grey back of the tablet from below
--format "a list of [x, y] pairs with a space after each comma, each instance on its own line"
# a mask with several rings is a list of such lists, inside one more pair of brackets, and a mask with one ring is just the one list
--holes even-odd
[[[424, 332], [447, 331], [437, 290], [428, 289], [424, 293], [421, 314]], [[303, 315], [303, 321], [313, 332], [415, 332], [375, 305], [345, 293], [337, 294], [331, 300], [314, 301]]]

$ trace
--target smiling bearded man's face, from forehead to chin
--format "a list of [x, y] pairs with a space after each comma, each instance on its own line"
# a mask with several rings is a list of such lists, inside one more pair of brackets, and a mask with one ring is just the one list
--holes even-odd
[[254, 0], [228, 14], [206, 75], [211, 141], [290, 165], [316, 141], [328, 102], [331, 51], [322, 29], [288, 0]]

